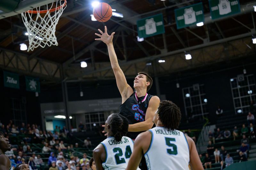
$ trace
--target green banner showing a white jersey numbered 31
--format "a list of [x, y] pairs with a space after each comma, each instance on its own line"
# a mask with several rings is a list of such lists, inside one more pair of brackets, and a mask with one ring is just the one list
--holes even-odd
[[165, 33], [163, 14], [157, 14], [138, 20], [137, 30], [140, 38]]

